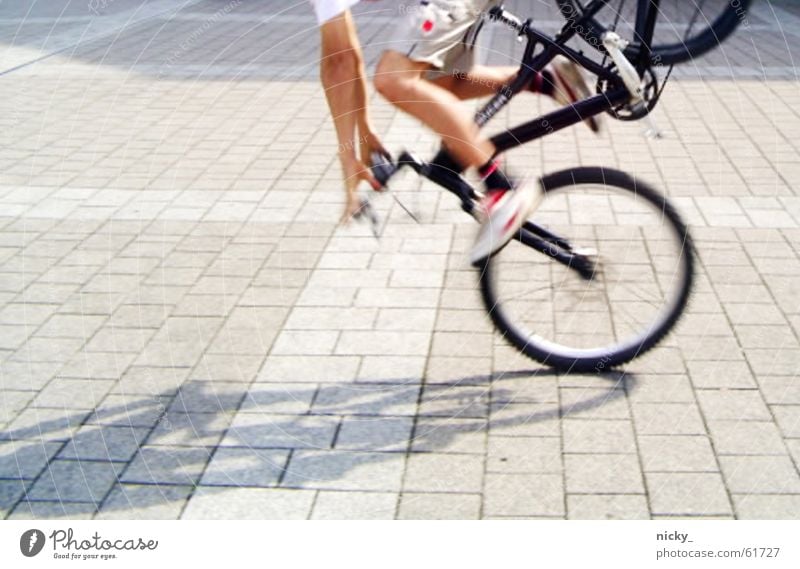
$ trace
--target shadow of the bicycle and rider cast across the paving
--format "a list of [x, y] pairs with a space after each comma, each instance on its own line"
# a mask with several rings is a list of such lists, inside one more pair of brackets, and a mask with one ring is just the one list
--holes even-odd
[[[373, 482], [373, 474], [401, 476], [394, 469], [402, 468], [409, 453], [474, 453], [471, 445], [490, 432], [557, 434], [562, 418], [613, 403], [636, 388], [629, 373], [593, 377], [591, 389], [572, 389], [577, 393], [568, 403], [546, 394], [561, 379], [549, 370], [441, 384], [398, 378], [231, 388], [189, 381], [175, 394], [145, 395], [0, 433], [0, 440], [14, 441], [13, 452], [0, 455], [0, 478], [24, 486], [5, 515], [15, 508], [14, 517], [89, 517], [100, 511], [128, 519], [174, 518], [198, 489], [206, 495], [242, 487], [314, 490], [365, 484], [380, 490], [382, 482]], [[537, 380], [548, 389], [531, 391]], [[83, 428], [63, 436], [65, 421]], [[121, 432], [135, 439], [125, 460]], [[20, 466], [35, 458], [41, 462], [44, 445], [52, 442], [60, 450], [38, 472]], [[73, 468], [64, 470], [65, 465]], [[113, 473], [105, 484], [92, 474], [103, 466]]]

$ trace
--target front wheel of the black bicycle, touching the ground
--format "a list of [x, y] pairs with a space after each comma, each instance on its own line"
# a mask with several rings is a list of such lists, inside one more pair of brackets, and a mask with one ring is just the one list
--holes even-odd
[[565, 371], [603, 371], [655, 346], [689, 299], [686, 225], [647, 184], [607, 168], [541, 179], [545, 198], [481, 266], [497, 329], [517, 349]]

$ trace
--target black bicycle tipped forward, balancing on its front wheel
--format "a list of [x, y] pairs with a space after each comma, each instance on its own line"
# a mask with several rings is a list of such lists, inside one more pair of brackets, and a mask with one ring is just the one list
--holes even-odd
[[[733, 6], [749, 5], [728, 2], [707, 28], [678, 46], [653, 43], [661, 0], [639, 0], [631, 40], [616, 31], [620, 9], [607, 12], [612, 25], [600, 24], [610, 0], [557, 1], [566, 24], [553, 38], [502, 7], [489, 11], [491, 20], [527, 38], [527, 45], [517, 76], [475, 120], [485, 125], [557, 55], [597, 76], [597, 94], [495, 135], [498, 154], [603, 112], [622, 120], [646, 117], [669, 78], [660, 84], [653, 68], [708, 51], [716, 45], [713, 38], [729, 35], [741, 21]], [[568, 47], [576, 35], [602, 61]], [[375, 173], [385, 183], [410, 167], [455, 194], [477, 218], [480, 194], [461, 175], [439, 167], [438, 158], [423, 162], [403, 152]], [[479, 266], [481, 295], [495, 327], [522, 353], [562, 371], [607, 370], [653, 348], [677, 323], [692, 288], [694, 246], [680, 215], [653, 187], [611, 168], [567, 169], [543, 176], [540, 184], [545, 198], [532, 219]], [[374, 226], [374, 211], [365, 205]]]

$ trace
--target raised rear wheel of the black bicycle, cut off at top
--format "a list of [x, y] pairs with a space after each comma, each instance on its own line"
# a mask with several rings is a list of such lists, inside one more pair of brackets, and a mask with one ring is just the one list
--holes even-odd
[[[646, 0], [645, 0], [646, 1]], [[557, 0], [568, 21], [576, 21], [590, 0]], [[699, 57], [716, 48], [747, 17], [751, 0], [661, 0], [653, 32], [655, 65], [672, 65]], [[632, 42], [626, 51], [636, 57], [636, 14], [640, 0], [609, 0], [588, 24], [578, 30], [592, 46], [602, 46], [602, 35], [614, 30]]]

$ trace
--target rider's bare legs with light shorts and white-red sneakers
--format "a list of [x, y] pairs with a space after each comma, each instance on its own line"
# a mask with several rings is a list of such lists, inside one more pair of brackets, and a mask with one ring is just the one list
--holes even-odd
[[[470, 253], [473, 264], [508, 243], [543, 198], [538, 184], [503, 171], [492, 142], [481, 136], [470, 111], [458, 104], [461, 99], [494, 94], [517, 73], [515, 68], [474, 65], [482, 15], [495, 4], [499, 1], [421, 0], [409, 7], [374, 79], [377, 91], [390, 103], [442, 137], [437, 166], [456, 172], [478, 169], [486, 192], [480, 208], [483, 224]], [[577, 66], [564, 58], [537, 74], [529, 89], [562, 104], [590, 93]], [[594, 119], [586, 122], [598, 131]]]

